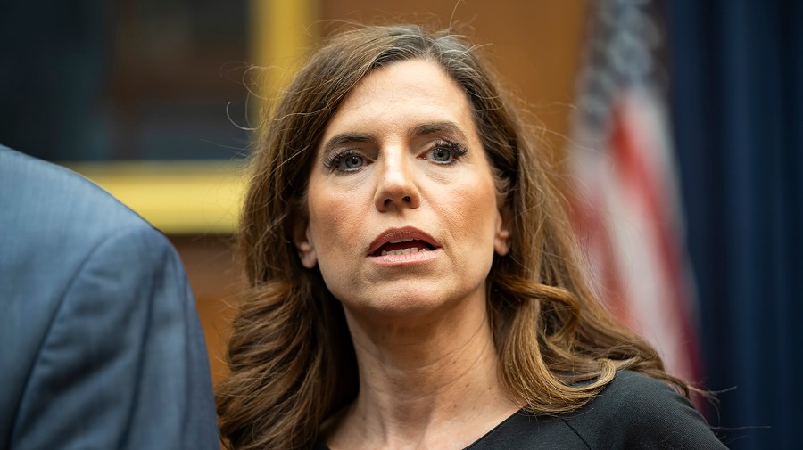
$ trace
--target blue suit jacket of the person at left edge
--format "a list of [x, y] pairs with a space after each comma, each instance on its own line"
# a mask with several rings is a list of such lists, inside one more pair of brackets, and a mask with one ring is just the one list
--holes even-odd
[[0, 146], [0, 450], [219, 449], [170, 242], [87, 179]]

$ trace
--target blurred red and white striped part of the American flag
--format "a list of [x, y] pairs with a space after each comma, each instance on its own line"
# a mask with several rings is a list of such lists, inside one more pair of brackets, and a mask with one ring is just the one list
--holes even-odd
[[[607, 133], [575, 129], [575, 222], [600, 296], [658, 349], [668, 372], [700, 380], [691, 272], [661, 104], [623, 89]], [[584, 135], [585, 133], [585, 135]]]

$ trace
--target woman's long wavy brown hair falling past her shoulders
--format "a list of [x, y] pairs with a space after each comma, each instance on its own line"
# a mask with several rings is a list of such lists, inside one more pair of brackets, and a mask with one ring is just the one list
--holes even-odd
[[229, 341], [231, 374], [217, 389], [229, 447], [310, 448], [321, 423], [357, 395], [343, 309], [319, 271], [302, 267], [293, 231], [307, 217], [307, 182], [327, 121], [369, 72], [410, 59], [435, 61], [468, 95], [512, 213], [511, 251], [494, 260], [487, 282], [511, 399], [535, 413], [566, 413], [625, 368], [688, 396], [689, 386], [664, 371], [656, 351], [595, 299], [542, 148], [478, 53], [449, 31], [346, 29], [312, 54], [265, 119], [238, 235], [250, 288]]

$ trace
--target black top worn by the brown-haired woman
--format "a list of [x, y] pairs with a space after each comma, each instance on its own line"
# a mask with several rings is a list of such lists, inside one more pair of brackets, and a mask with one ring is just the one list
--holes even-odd
[[[319, 443], [316, 450], [328, 450]], [[635, 372], [616, 378], [589, 404], [558, 416], [519, 411], [470, 450], [725, 448], [689, 401], [664, 382]]]

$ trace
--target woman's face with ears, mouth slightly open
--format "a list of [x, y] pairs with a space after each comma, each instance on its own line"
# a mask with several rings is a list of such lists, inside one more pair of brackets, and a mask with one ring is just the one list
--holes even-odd
[[370, 73], [317, 151], [295, 243], [344, 307], [402, 317], [484, 305], [509, 230], [466, 94], [438, 65]]

